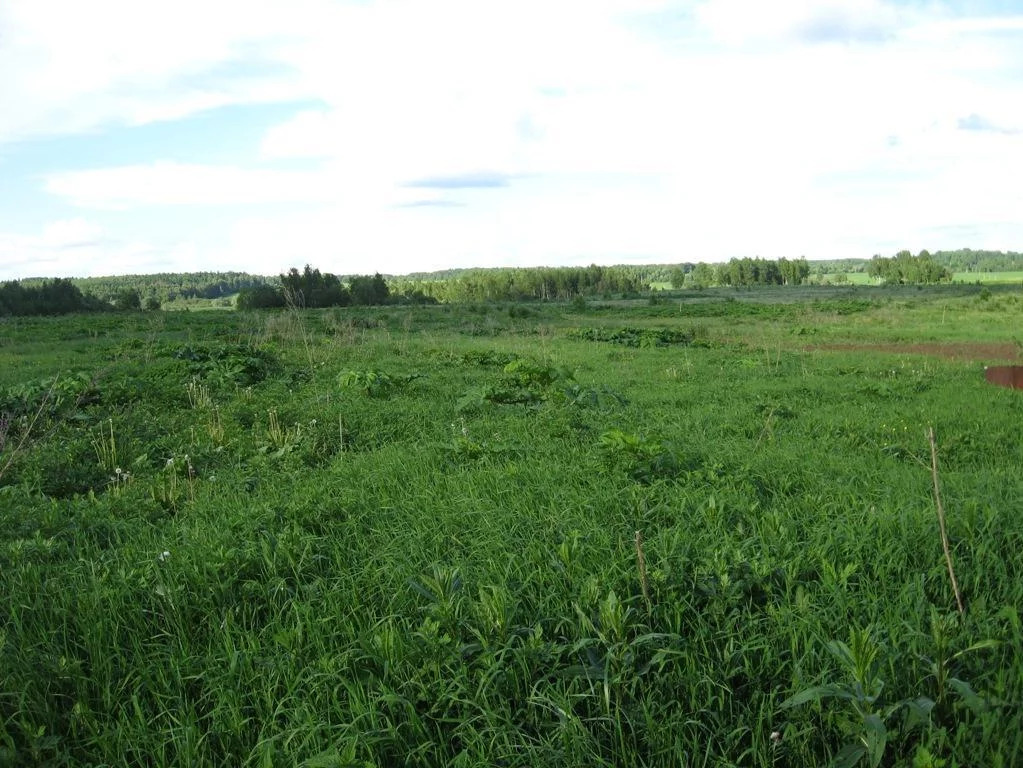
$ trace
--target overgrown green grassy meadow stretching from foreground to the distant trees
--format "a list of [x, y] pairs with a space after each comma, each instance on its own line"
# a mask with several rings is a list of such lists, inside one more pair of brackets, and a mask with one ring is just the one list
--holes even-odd
[[2, 320], [0, 766], [1019, 765], [1020, 327], [1011, 286]]

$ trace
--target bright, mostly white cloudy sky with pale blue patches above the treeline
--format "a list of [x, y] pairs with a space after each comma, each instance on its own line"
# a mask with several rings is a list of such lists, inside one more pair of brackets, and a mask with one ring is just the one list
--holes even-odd
[[1023, 250], [1023, 0], [0, 0], [0, 279]]

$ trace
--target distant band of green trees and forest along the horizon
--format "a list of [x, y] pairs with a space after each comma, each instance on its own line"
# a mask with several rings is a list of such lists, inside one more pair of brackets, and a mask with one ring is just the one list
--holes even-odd
[[481, 301], [557, 301], [630, 297], [659, 288], [797, 285], [845, 281], [876, 284], [945, 282], [953, 275], [1023, 271], [1023, 253], [902, 251], [893, 257], [807, 261], [732, 259], [724, 264], [602, 267], [497, 267], [394, 275], [335, 275], [306, 266], [277, 276], [187, 272], [108, 277], [26, 278], [0, 283], [0, 317], [71, 312], [221, 306], [261, 309]]

